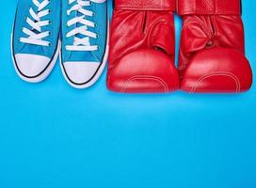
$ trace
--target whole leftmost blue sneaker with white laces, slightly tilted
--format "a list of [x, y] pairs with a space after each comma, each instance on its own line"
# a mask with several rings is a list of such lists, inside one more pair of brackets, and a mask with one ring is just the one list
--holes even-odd
[[11, 35], [16, 72], [38, 83], [53, 70], [59, 52], [59, 0], [20, 0]]

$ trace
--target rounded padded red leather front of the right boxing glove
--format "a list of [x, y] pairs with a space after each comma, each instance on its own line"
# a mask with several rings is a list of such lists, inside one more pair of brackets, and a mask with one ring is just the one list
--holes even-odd
[[239, 51], [231, 48], [202, 50], [193, 56], [192, 62], [184, 72], [181, 84], [184, 91], [242, 92], [251, 86], [248, 60]]

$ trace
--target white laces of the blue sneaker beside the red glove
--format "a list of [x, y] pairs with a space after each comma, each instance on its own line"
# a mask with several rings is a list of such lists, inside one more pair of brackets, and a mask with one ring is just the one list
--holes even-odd
[[[73, 37], [73, 44], [66, 45], [66, 50], [68, 51], [97, 51], [99, 50], [98, 45], [91, 45], [90, 39], [97, 39], [99, 36], [96, 33], [88, 31], [88, 27], [95, 27], [96, 24], [90, 22], [86, 17], [92, 17], [95, 15], [94, 12], [86, 9], [86, 7], [91, 6], [91, 2], [94, 3], [104, 3], [105, 0], [69, 0], [71, 5], [76, 2], [71, 9], [67, 11], [68, 15], [71, 15], [72, 11], [79, 12], [82, 16], [77, 16], [68, 21], [67, 26], [72, 26], [73, 24], [81, 24], [82, 26], [75, 27], [67, 34], [67, 38]], [[85, 36], [84, 38], [78, 38], [77, 35]]]

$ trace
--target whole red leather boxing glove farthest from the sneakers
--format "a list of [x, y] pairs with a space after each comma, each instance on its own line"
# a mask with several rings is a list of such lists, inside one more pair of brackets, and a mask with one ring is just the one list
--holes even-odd
[[245, 56], [240, 0], [177, 0], [183, 16], [179, 55], [181, 89], [243, 92], [252, 84]]

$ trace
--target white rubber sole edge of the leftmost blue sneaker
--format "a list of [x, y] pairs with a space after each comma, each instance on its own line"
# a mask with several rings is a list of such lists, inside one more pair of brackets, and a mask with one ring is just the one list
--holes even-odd
[[16, 66], [16, 61], [15, 61], [15, 57], [14, 57], [14, 54], [13, 54], [13, 31], [11, 32], [11, 38], [10, 38], [10, 50], [11, 50], [11, 57], [12, 57], [12, 63], [13, 63], [13, 66], [14, 66], [14, 69], [16, 71], [16, 73], [18, 74], [18, 76], [24, 80], [25, 82], [28, 82], [28, 83], [40, 83], [42, 82], [43, 80], [45, 80], [49, 74], [53, 71], [55, 65], [56, 65], [56, 59], [59, 55], [59, 51], [60, 51], [60, 40], [58, 40], [58, 44], [57, 44], [57, 48], [56, 48], [56, 54], [54, 55], [54, 58], [52, 59], [52, 62], [50, 62], [50, 65], [48, 66], [48, 68], [43, 71], [39, 76], [37, 77], [33, 77], [33, 78], [29, 78], [29, 77], [25, 77], [23, 74], [21, 74], [21, 72], [18, 70], [17, 66]]

